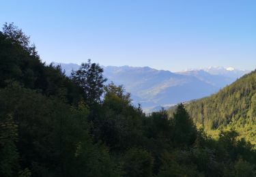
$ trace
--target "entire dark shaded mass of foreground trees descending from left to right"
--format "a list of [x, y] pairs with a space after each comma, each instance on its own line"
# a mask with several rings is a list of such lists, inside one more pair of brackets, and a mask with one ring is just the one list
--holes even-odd
[[68, 78], [13, 24], [0, 32], [0, 176], [255, 176], [236, 131], [197, 130], [184, 106], [146, 116], [103, 69]]

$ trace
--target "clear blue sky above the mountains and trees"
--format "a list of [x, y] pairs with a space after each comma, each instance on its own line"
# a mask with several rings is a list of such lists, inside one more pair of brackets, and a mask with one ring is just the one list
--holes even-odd
[[256, 68], [256, 1], [1, 1], [46, 63]]

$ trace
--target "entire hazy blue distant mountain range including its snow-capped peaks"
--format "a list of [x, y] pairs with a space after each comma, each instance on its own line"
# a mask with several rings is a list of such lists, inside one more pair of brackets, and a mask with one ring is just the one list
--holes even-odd
[[[79, 65], [60, 63], [70, 75]], [[150, 67], [107, 66], [104, 76], [109, 82], [122, 84], [132, 94], [133, 103], [141, 103], [143, 110], [157, 110], [160, 106], [172, 105], [191, 99], [206, 97], [240, 78], [245, 71], [215, 67], [173, 73]], [[227, 72], [223, 71], [226, 70]], [[217, 70], [219, 72], [217, 72]]]

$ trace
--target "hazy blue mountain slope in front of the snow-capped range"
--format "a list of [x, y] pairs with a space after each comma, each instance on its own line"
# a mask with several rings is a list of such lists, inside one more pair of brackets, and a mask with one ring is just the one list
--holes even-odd
[[150, 67], [104, 67], [104, 75], [115, 84], [124, 84], [132, 98], [137, 98], [143, 107], [179, 103], [218, 90], [194, 76]]

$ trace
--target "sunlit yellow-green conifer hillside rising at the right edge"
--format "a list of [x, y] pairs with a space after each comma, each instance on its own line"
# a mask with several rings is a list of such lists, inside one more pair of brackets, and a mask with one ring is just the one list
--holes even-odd
[[210, 134], [233, 129], [256, 144], [256, 71], [210, 97], [187, 103], [186, 109], [194, 122]]

